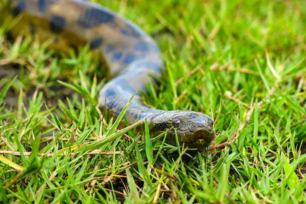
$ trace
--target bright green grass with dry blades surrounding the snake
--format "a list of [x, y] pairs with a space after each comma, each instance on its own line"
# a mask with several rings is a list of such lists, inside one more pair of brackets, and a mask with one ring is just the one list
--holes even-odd
[[230, 142], [192, 153], [163, 135], [137, 135], [135, 125], [115, 131], [117, 122], [107, 114], [102, 121], [96, 108], [105, 79], [91, 52], [9, 41], [11, 22], [4, 22], [0, 202], [306, 201], [305, 1], [103, 5], [139, 24], [162, 50], [167, 71], [143, 101], [206, 113], [218, 132], [210, 147]]

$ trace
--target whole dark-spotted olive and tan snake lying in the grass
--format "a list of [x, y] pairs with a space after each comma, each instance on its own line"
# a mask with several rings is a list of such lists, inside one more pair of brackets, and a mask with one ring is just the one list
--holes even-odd
[[[205, 149], [215, 138], [214, 122], [192, 110], [161, 110], [141, 102], [146, 84], [161, 77], [164, 62], [154, 40], [139, 26], [97, 3], [86, 0], [8, 0], [4, 16], [19, 17], [10, 29], [13, 37], [52, 39], [50, 47], [71, 50], [89, 46], [101, 53], [111, 79], [99, 90], [101, 107], [118, 117], [134, 95], [125, 116], [128, 124], [146, 118], [150, 137], [166, 131], [165, 142]], [[144, 123], [144, 122], [143, 122]], [[177, 139], [176, 139], [177, 136]]]

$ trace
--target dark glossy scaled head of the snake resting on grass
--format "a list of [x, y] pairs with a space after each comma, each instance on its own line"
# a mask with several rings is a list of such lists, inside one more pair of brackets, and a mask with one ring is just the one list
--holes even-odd
[[175, 131], [179, 143], [189, 148], [202, 150], [215, 138], [213, 120], [201, 112], [173, 110], [148, 118], [150, 134], [157, 135], [168, 130], [166, 143], [176, 145]]

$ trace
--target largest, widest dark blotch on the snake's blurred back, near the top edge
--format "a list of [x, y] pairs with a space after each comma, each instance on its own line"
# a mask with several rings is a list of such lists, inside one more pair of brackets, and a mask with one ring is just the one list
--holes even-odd
[[83, 28], [91, 28], [101, 23], [111, 22], [113, 14], [101, 8], [91, 8], [86, 10], [77, 19], [77, 24]]

